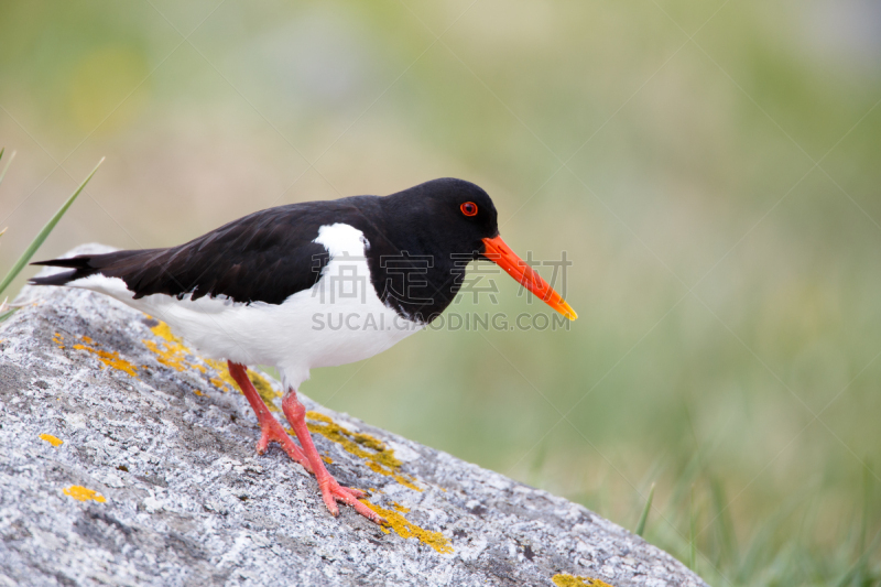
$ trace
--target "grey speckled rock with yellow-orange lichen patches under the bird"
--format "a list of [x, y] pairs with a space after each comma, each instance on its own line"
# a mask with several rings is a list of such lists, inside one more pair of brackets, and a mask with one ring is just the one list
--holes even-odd
[[301, 395], [330, 472], [390, 525], [333, 518], [278, 447], [254, 453], [222, 363], [99, 294], [19, 300], [0, 326], [0, 584], [704, 585], [581, 506]]

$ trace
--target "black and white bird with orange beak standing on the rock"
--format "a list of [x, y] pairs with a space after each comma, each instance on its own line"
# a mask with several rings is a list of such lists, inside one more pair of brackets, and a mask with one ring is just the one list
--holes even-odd
[[[39, 261], [67, 271], [33, 285], [99, 292], [159, 317], [205, 356], [227, 361], [253, 409], [258, 454], [278, 443], [337, 502], [384, 520], [327, 471], [296, 390], [309, 370], [355, 362], [425, 328], [454, 301], [472, 260], [498, 264], [552, 308], [575, 311], [501, 239], [489, 194], [444, 177], [387, 196], [351, 196], [255, 211], [177, 247]], [[345, 327], [344, 327], [345, 324]], [[275, 367], [295, 443], [247, 366]]]

